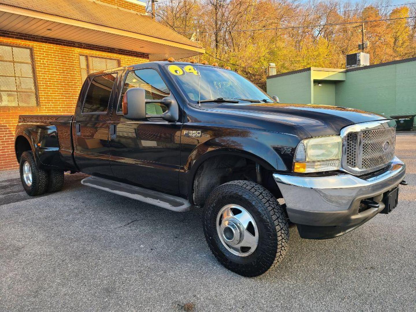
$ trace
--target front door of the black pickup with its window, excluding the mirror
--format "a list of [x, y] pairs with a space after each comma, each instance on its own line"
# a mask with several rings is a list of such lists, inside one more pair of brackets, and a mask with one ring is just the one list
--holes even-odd
[[[110, 122], [113, 175], [126, 183], [177, 194], [181, 122], [161, 118], [129, 120], [121, 112], [121, 101], [129, 88], [146, 89], [147, 99], [163, 99], [171, 91], [153, 68], [132, 69], [124, 77]], [[160, 103], [146, 105], [147, 114], [162, 114], [166, 109]]]

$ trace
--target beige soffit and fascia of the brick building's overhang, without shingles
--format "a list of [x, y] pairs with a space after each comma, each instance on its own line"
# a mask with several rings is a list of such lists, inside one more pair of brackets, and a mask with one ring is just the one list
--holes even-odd
[[202, 47], [3, 4], [0, 30], [146, 53], [150, 61], [205, 53]]

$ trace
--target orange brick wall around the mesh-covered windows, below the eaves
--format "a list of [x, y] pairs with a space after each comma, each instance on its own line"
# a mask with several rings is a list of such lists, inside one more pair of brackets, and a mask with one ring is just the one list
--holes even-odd
[[119, 59], [121, 66], [149, 59], [147, 54], [6, 32], [0, 32], [0, 43], [32, 47], [39, 90], [37, 107], [0, 107], [0, 170], [18, 167], [14, 135], [19, 115], [74, 113], [82, 85], [79, 54]]

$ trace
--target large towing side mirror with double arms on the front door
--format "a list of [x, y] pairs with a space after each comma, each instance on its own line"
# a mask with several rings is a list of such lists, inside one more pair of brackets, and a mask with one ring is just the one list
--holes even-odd
[[[168, 110], [160, 115], [146, 114], [147, 103], [162, 103]], [[179, 119], [178, 104], [172, 96], [161, 100], [146, 99], [146, 90], [143, 88], [130, 88], [124, 93], [122, 103], [123, 115], [127, 119], [163, 118], [169, 121]]]

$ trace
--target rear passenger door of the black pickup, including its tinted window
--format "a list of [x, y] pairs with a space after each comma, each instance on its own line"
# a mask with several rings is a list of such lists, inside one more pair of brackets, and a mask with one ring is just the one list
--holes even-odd
[[109, 149], [109, 103], [117, 73], [89, 77], [79, 97], [72, 133], [79, 169], [93, 176], [112, 176]]

